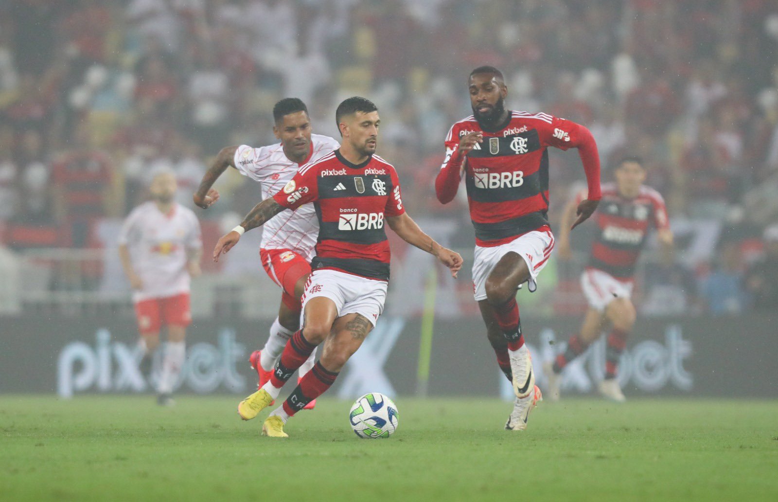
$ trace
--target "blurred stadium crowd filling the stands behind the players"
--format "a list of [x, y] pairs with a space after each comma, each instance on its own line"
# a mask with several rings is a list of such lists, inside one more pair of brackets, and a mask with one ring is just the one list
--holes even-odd
[[[370, 97], [406, 204], [466, 222], [466, 201], [440, 205], [433, 179], [447, 129], [470, 114], [466, 75], [483, 64], [505, 73], [511, 108], [591, 128], [606, 179], [620, 157], [641, 156], [674, 226], [709, 229], [707, 252], [693, 252], [690, 230], [674, 262], [647, 265], [643, 311], [672, 313], [678, 297], [713, 314], [778, 306], [770, 0], [4, 3], [0, 245], [100, 246], [96, 222], [125, 216], [158, 170], [176, 173], [191, 205], [220, 147], [275, 142], [270, 111], [289, 96], [335, 137], [338, 102]], [[551, 159], [553, 219], [583, 174], [574, 153]], [[202, 219], [257, 202], [251, 181], [226, 184]]]

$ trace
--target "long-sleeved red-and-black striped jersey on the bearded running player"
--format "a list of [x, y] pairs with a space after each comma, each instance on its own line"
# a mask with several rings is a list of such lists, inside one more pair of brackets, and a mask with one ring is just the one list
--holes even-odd
[[[563, 150], [579, 147], [589, 181], [589, 198], [599, 198], [600, 164], [588, 129], [548, 114], [512, 111], [506, 125], [496, 132], [484, 131], [473, 116], [450, 128], [446, 160], [436, 181], [441, 202], [448, 198], [441, 197], [441, 192], [450, 192], [450, 186], [443, 185], [454, 177], [454, 173], [443, 171], [449, 167], [459, 170], [459, 142], [471, 132], [483, 134], [483, 142], [464, 158], [470, 218], [478, 246], [505, 244], [548, 225], [548, 146]], [[458, 182], [458, 173], [454, 181]], [[455, 192], [456, 185], [453, 189]]]

